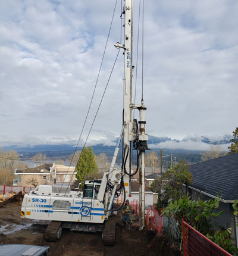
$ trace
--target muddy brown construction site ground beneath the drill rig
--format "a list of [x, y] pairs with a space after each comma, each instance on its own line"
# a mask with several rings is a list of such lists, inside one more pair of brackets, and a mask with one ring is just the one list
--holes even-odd
[[0, 205], [0, 244], [49, 246], [48, 256], [180, 255], [170, 242], [165, 238], [161, 239], [162, 236], [156, 235], [154, 230], [140, 231], [138, 227], [133, 226], [129, 231], [127, 227], [121, 225], [119, 215], [115, 246], [105, 246], [101, 241], [101, 232], [71, 232], [67, 229], [63, 229], [58, 242], [47, 242], [43, 234], [48, 221], [21, 218], [20, 208], [21, 202]]

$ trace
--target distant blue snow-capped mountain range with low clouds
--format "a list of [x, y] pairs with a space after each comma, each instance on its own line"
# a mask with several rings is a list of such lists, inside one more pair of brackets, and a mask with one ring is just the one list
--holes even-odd
[[[149, 148], [153, 150], [169, 149], [176, 152], [202, 152], [209, 150], [211, 145], [220, 145], [221, 150], [226, 151], [232, 136], [186, 136], [183, 139], [171, 139], [169, 137], [149, 136]], [[116, 141], [111, 141], [108, 144], [105, 142], [89, 143], [92, 146], [95, 154], [100, 152], [114, 152]], [[114, 144], [114, 145], [113, 145]], [[45, 143], [40, 145], [10, 145], [4, 146], [4, 150], [15, 150], [20, 154], [36, 153], [36, 152], [73, 152], [76, 147], [76, 141], [64, 143]], [[81, 149], [82, 147], [79, 147]]]

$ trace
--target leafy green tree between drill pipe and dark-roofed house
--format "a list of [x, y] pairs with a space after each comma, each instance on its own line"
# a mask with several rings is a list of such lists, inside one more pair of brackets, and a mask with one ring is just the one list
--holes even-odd
[[176, 167], [169, 168], [162, 173], [159, 179], [151, 184], [152, 191], [158, 193], [157, 208], [167, 205], [170, 199], [184, 198], [186, 195], [182, 189], [183, 184], [187, 187], [192, 181], [193, 177], [189, 172], [189, 166], [183, 160], [180, 160]]

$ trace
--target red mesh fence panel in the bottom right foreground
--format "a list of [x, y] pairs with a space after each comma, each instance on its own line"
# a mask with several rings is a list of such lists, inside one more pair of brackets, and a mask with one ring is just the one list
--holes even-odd
[[182, 226], [184, 256], [232, 256], [185, 221]]

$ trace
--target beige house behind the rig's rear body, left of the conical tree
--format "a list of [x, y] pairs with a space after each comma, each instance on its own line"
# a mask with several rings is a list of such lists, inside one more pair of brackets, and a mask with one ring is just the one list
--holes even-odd
[[62, 164], [44, 164], [40, 167], [15, 170], [17, 179], [13, 180], [13, 186], [32, 186], [31, 180], [37, 185], [52, 185], [56, 182], [74, 182], [76, 176], [75, 166]]

